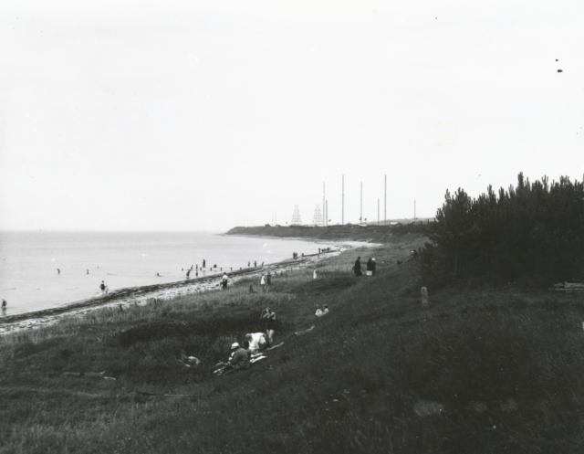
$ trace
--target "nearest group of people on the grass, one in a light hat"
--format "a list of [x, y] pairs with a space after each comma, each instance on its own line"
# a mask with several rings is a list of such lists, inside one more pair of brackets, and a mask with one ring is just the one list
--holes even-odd
[[225, 374], [230, 371], [245, 369], [249, 364], [266, 358], [264, 352], [275, 346], [276, 312], [266, 307], [260, 314], [260, 322], [263, 323], [264, 333], [247, 333], [243, 344], [238, 342], [231, 344], [231, 354], [226, 363], [215, 364], [214, 374]]

